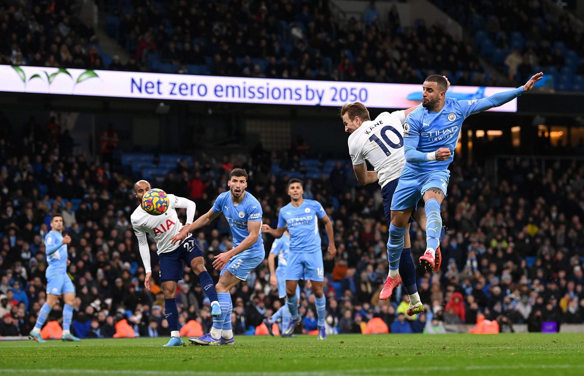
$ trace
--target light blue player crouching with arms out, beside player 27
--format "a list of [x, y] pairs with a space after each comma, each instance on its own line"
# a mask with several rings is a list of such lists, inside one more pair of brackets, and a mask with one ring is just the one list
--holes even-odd
[[229, 291], [248, 278], [249, 272], [256, 268], [266, 256], [262, 240], [262, 206], [249, 192], [248, 173], [242, 168], [234, 168], [227, 182], [230, 190], [220, 194], [213, 208], [200, 216], [189, 226], [172, 238], [173, 242], [182, 241], [187, 234], [207, 226], [221, 213], [230, 224], [233, 243], [230, 251], [215, 256], [213, 267], [221, 270], [219, 282], [215, 285], [217, 300], [221, 305], [221, 316], [213, 318], [211, 331], [199, 338], [189, 338], [197, 345], [234, 345], [231, 328], [233, 303]]

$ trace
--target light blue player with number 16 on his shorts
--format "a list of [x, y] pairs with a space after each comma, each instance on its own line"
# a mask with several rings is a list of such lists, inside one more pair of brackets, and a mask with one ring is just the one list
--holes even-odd
[[296, 287], [298, 280], [304, 278], [312, 281], [317, 306], [318, 339], [326, 339], [326, 297], [323, 293], [325, 272], [322, 263], [321, 236], [318, 233], [319, 218], [325, 224], [329, 241], [328, 252], [331, 257], [336, 254], [335, 237], [331, 219], [326, 215], [325, 209], [318, 201], [305, 200], [303, 194], [302, 182], [291, 179], [288, 182], [288, 195], [291, 202], [280, 209], [278, 228], [274, 230], [265, 224], [262, 230], [276, 238], [284, 234], [284, 226], [288, 226], [288, 231], [290, 231], [290, 256], [286, 266], [286, 295], [288, 296], [286, 304], [290, 310], [290, 321], [283, 328], [283, 334], [290, 335], [296, 324], [300, 322]]

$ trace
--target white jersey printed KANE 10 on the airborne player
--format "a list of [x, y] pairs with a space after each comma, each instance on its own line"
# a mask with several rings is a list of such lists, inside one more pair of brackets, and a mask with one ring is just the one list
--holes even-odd
[[377, 171], [381, 187], [399, 178], [405, 166], [404, 122], [405, 111], [381, 113], [375, 120], [364, 121], [349, 136], [353, 164], [367, 160]]

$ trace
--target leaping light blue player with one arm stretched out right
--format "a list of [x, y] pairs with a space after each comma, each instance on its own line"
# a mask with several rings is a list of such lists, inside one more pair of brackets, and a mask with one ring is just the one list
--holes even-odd
[[[391, 204], [391, 226], [388, 250], [396, 263], [404, 248], [404, 233], [409, 216], [420, 196], [426, 211], [426, 252], [420, 265], [428, 272], [434, 270], [434, 255], [439, 245], [442, 218], [440, 205], [446, 197], [450, 178], [448, 166], [454, 159], [454, 149], [463, 121], [469, 115], [498, 107], [529, 92], [543, 73], [532, 76], [514, 90], [493, 94], [478, 100], [456, 100], [446, 97], [447, 82], [443, 76], [432, 75], [423, 83], [422, 107], [413, 110], [404, 123], [406, 165], [399, 177]], [[397, 266], [390, 260], [390, 277], [398, 275]]]

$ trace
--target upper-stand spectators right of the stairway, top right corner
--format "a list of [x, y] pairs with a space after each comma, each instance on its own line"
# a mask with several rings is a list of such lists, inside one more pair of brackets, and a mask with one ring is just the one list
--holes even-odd
[[482, 54], [507, 74], [510, 83], [519, 85], [543, 70], [555, 76], [557, 86], [583, 89], [584, 78], [575, 80], [574, 76], [584, 75], [584, 30], [555, 2], [432, 2], [463, 24]]

